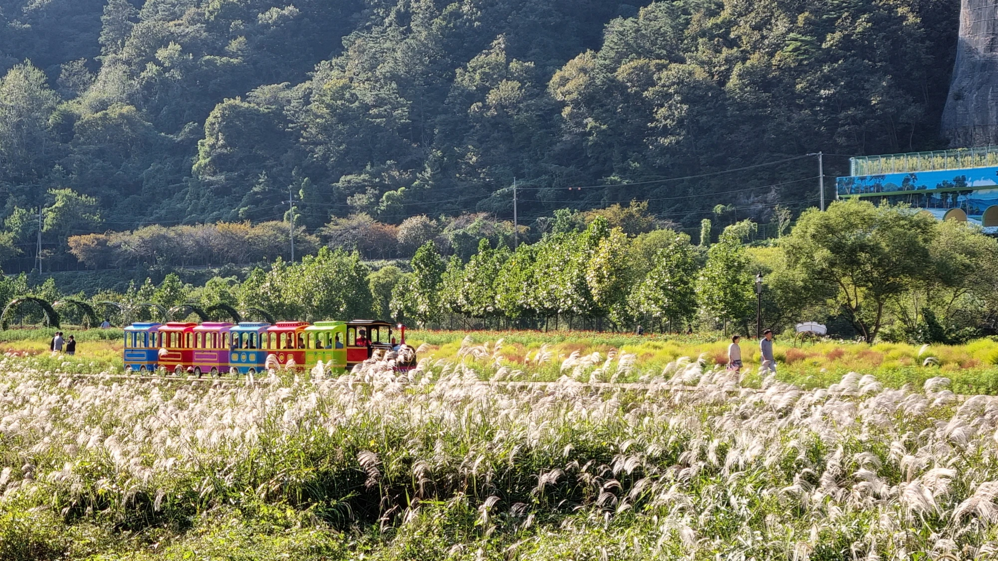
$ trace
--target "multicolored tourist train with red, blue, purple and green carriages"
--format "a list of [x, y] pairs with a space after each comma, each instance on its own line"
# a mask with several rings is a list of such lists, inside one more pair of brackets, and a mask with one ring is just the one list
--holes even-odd
[[[397, 333], [397, 340], [396, 340]], [[396, 369], [416, 365], [405, 325], [352, 321], [132, 323], [125, 327], [125, 369], [175, 374], [255, 374], [270, 367], [311, 369], [319, 361], [344, 372], [378, 350], [396, 352]]]

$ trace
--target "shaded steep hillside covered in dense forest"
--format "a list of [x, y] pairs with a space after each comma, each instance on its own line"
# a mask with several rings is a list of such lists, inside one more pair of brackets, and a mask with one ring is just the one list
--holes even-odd
[[46, 259], [76, 263], [73, 235], [286, 220], [289, 193], [309, 234], [509, 220], [514, 178], [528, 227], [635, 199], [767, 221], [816, 196], [790, 158], [944, 145], [958, 8], [0, 0], [0, 260], [30, 265], [39, 206]]

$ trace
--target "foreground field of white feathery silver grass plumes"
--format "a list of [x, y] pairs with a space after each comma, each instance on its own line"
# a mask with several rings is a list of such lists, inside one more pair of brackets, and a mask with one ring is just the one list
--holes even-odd
[[5, 356], [0, 559], [998, 555], [998, 400], [946, 378], [747, 388], [680, 359], [594, 388], [634, 358], [545, 350], [556, 383], [476, 383], [526, 375], [500, 355], [216, 381]]

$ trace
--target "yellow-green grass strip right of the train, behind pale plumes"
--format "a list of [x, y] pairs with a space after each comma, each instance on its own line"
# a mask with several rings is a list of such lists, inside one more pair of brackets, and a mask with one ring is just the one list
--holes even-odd
[[[683, 356], [703, 358], [709, 365], [728, 361], [729, 340], [721, 336], [669, 335], [637, 336], [633, 334], [560, 331], [418, 331], [407, 333], [414, 344], [427, 343], [426, 356], [434, 359], [457, 360], [465, 337], [474, 345], [488, 344], [498, 352], [488, 352], [479, 360], [463, 360], [490, 375], [499, 367], [520, 370], [524, 379], [555, 380], [563, 371], [562, 360], [577, 351], [580, 355], [599, 352], [606, 358], [611, 352], [634, 356], [634, 368], [618, 375], [619, 381], [640, 381], [659, 375], [671, 362]], [[546, 345], [546, 346], [545, 346]], [[757, 387], [761, 379], [756, 374], [759, 365], [757, 340], [742, 339], [743, 370], [747, 385]], [[549, 362], [533, 363], [541, 348], [552, 353]], [[962, 345], [931, 345], [922, 347], [904, 343], [867, 345], [851, 341], [820, 341], [799, 343], [777, 337], [774, 355], [778, 366], [776, 376], [802, 387], [825, 387], [849, 372], [873, 374], [889, 387], [911, 383], [921, 387], [925, 380], [945, 376], [952, 380], [958, 393], [998, 394], [998, 342], [982, 338]], [[498, 361], [496, 358], [499, 358]], [[928, 361], [926, 362], [926, 359]], [[616, 373], [616, 370], [613, 372]], [[612, 374], [611, 374], [612, 375]]]

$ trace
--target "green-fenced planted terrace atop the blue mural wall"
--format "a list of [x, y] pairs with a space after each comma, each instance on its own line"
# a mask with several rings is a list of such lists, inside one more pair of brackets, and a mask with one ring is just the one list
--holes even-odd
[[849, 175], [881, 176], [998, 166], [998, 146], [849, 158]]

